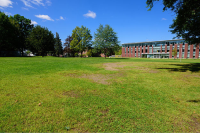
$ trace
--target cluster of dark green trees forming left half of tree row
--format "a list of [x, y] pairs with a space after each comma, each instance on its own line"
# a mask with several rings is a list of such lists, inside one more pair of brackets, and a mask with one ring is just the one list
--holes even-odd
[[59, 55], [62, 53], [62, 43], [58, 33], [54, 34], [45, 27], [34, 26], [31, 20], [16, 14], [8, 17], [0, 12], [0, 51], [30, 50], [39, 55], [47, 52]]

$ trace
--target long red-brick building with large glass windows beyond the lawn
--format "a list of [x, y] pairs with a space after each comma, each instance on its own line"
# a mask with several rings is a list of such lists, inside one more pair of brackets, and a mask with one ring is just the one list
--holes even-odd
[[[183, 39], [122, 44], [122, 57], [136, 58], [200, 58], [200, 44], [191, 44]], [[174, 57], [172, 50], [177, 50]]]

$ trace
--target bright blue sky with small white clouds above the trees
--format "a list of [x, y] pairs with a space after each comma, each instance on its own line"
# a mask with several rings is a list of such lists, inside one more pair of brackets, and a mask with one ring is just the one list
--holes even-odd
[[110, 25], [121, 44], [172, 39], [169, 25], [175, 14], [162, 9], [160, 1], [147, 11], [146, 0], [0, 0], [1, 11], [58, 32], [63, 43], [76, 26], [94, 35], [100, 24]]

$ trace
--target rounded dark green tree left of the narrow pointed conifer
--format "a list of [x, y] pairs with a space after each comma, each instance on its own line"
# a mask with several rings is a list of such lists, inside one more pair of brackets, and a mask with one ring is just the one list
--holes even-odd
[[47, 28], [37, 25], [31, 31], [28, 40], [30, 42], [29, 49], [34, 53], [41, 53], [44, 56], [48, 51], [54, 51], [54, 35]]

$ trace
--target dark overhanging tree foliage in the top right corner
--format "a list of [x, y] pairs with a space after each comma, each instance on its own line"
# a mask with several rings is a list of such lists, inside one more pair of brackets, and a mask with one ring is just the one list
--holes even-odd
[[[159, 0], [147, 0], [149, 10]], [[199, 0], [163, 0], [163, 11], [168, 8], [176, 13], [170, 30], [177, 38], [184, 38], [189, 43], [200, 42], [200, 1]]]

